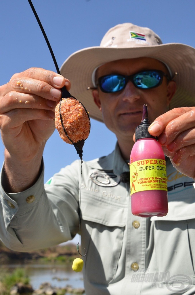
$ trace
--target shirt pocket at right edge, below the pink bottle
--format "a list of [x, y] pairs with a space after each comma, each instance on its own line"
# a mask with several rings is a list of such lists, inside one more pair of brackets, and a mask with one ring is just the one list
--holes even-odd
[[[195, 278], [195, 206], [192, 198], [169, 203], [169, 213], [152, 217], [154, 250], [159, 271]], [[155, 262], [154, 262], [155, 263]]]

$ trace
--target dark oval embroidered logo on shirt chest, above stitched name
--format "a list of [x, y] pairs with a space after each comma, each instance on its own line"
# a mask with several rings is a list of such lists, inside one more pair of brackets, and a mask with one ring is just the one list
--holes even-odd
[[93, 183], [104, 187], [117, 186], [120, 183], [120, 176], [113, 172], [94, 171], [89, 177]]

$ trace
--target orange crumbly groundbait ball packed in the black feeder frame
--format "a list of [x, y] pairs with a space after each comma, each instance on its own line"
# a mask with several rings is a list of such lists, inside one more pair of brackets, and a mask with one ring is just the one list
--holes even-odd
[[55, 127], [58, 130], [60, 137], [67, 143], [72, 144], [65, 134], [60, 120], [67, 132], [68, 137], [72, 142], [76, 143], [79, 140], [85, 140], [90, 132], [90, 120], [82, 104], [74, 98], [62, 99], [55, 108]]

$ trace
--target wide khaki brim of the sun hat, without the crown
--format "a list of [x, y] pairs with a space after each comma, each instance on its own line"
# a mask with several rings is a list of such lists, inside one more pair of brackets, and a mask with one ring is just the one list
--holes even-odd
[[88, 47], [70, 55], [63, 63], [60, 73], [71, 82], [70, 93], [87, 109], [91, 118], [103, 122], [102, 114], [93, 101], [92, 73], [95, 68], [113, 60], [150, 57], [168, 65], [177, 90], [171, 100], [171, 109], [195, 105], [195, 49], [180, 43], [168, 43], [156, 46], [113, 48]]

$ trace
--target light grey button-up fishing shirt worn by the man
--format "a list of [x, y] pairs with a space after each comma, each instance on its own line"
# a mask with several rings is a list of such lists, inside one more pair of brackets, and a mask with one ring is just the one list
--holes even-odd
[[22, 252], [60, 244], [78, 232], [80, 212], [87, 295], [195, 294], [194, 181], [169, 160], [167, 179], [168, 214], [142, 218], [131, 213], [129, 165], [118, 145], [83, 162], [82, 183], [77, 160], [45, 186], [42, 171], [31, 188], [6, 194], [2, 170], [1, 240]]

